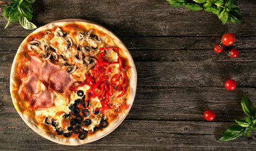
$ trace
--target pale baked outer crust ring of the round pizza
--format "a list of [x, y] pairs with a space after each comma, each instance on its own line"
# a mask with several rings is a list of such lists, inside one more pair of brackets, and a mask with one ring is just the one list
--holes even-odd
[[18, 111], [19, 115], [21, 116], [23, 121], [25, 121], [25, 123], [32, 130], [34, 130], [36, 133], [38, 133], [39, 135], [41, 135], [44, 138], [47, 138], [48, 140], [51, 140], [52, 142], [60, 143], [60, 144], [63, 144], [63, 145], [82, 145], [83, 143], [94, 142], [95, 140], [99, 140], [100, 138], [105, 137], [106, 135], [111, 133], [111, 131], [113, 131], [115, 128], [117, 128], [122, 123], [123, 120], [125, 120], [125, 117], [128, 115], [128, 112], [130, 111], [131, 106], [132, 106], [133, 101], [134, 101], [134, 98], [135, 98], [136, 87], [137, 87], [137, 71], [135, 69], [135, 64], [134, 64], [133, 59], [130, 55], [130, 52], [125, 47], [124, 43], [121, 42], [121, 40], [119, 40], [118, 36], [116, 36], [113, 32], [107, 30], [107, 28], [105, 28], [104, 26], [99, 25], [97, 23], [94, 23], [92, 21], [81, 20], [81, 19], [58, 20], [58, 21], [54, 21], [52, 23], [49, 23], [47, 25], [41, 26], [40, 28], [37, 28], [37, 30], [35, 30], [31, 34], [37, 33], [39, 31], [47, 30], [49, 28], [54, 28], [55, 26], [63, 26], [63, 25], [66, 25], [67, 23], [78, 23], [78, 24], [82, 24], [82, 25], [95, 26], [95, 28], [97, 28], [98, 30], [102, 30], [107, 35], [109, 35], [113, 39], [114, 43], [116, 43], [116, 45], [119, 48], [121, 48], [123, 50], [123, 52], [125, 53], [126, 57], [129, 60], [130, 76], [131, 76], [131, 79], [130, 79], [130, 97], [127, 101], [128, 109], [126, 110], [126, 113], [123, 113], [123, 114], [119, 115], [118, 118], [116, 118], [116, 120], [114, 120], [113, 123], [111, 123], [111, 125], [107, 126], [107, 128], [105, 128], [104, 130], [98, 131], [94, 135], [89, 136], [89, 137], [85, 138], [84, 140], [79, 140], [77, 138], [61, 138], [61, 137], [54, 136], [54, 135], [52, 135], [50, 133], [47, 133], [46, 131], [42, 130], [27, 115], [18, 111], [17, 98], [16, 98], [16, 95], [13, 93], [13, 89], [18, 86], [18, 84], [15, 82], [15, 75], [16, 75], [15, 69], [18, 66], [18, 62], [16, 62], [17, 54], [20, 53], [20, 52], [23, 52], [23, 45], [27, 41], [28, 36], [21, 43], [21, 45], [18, 48], [18, 51], [15, 55], [15, 59], [13, 60], [13, 65], [11, 67], [11, 77], [10, 77], [10, 92], [11, 92], [11, 98], [13, 100], [13, 104], [14, 104], [16, 110]]

